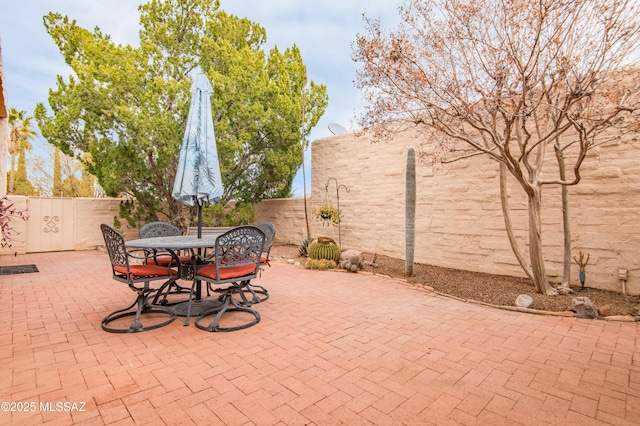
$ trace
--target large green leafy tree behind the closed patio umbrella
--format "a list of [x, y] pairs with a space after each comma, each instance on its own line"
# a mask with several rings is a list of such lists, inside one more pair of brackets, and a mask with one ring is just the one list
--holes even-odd
[[157, 220], [159, 212], [178, 225], [190, 223], [195, 209], [171, 191], [190, 73], [199, 67], [214, 87], [221, 203], [244, 206], [291, 193], [302, 158], [302, 102], [307, 135], [327, 105], [324, 86], [305, 87], [298, 48], [267, 54], [265, 30], [225, 13], [215, 0], [154, 0], [139, 10], [139, 47], [116, 45], [100, 29], [91, 32], [56, 13], [45, 16], [73, 75], [59, 76], [50, 92], [52, 115], [43, 104], [36, 108], [43, 136], [83, 161], [107, 195], [130, 200], [121, 215], [131, 225]]

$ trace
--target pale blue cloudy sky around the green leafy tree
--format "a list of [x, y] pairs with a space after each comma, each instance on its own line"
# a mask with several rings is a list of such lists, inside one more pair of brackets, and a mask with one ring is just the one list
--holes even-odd
[[[265, 50], [280, 51], [298, 46], [307, 66], [307, 75], [327, 86], [329, 106], [311, 133], [310, 140], [332, 135], [329, 124], [347, 130], [356, 127], [355, 117], [363, 102], [354, 87], [358, 64], [352, 58], [352, 43], [364, 33], [362, 14], [380, 18], [391, 28], [397, 22], [401, 0], [221, 0], [226, 12], [246, 17], [266, 29]], [[47, 105], [49, 89], [56, 78], [68, 78], [55, 43], [43, 25], [43, 16], [58, 12], [93, 30], [99, 27], [115, 43], [139, 45], [138, 5], [142, 0], [0, 0], [0, 42], [9, 107], [32, 116], [36, 103]], [[48, 144], [42, 138], [34, 143], [34, 155], [43, 155]], [[311, 181], [310, 152], [306, 155], [307, 190]], [[302, 176], [294, 179], [294, 194], [302, 196]]]

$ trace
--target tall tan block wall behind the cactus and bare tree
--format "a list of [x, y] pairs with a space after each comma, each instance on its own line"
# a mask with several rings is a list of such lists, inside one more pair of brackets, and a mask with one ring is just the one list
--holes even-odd
[[[640, 150], [634, 140], [595, 148], [582, 167], [583, 180], [570, 187], [572, 255], [589, 253], [588, 285], [620, 291], [618, 269], [629, 270], [627, 292], [640, 293]], [[415, 133], [373, 143], [353, 133], [320, 139], [312, 145], [312, 209], [325, 198], [336, 205], [335, 178], [343, 210], [343, 248], [404, 258], [406, 153], [428, 149]], [[555, 167], [550, 163], [549, 167]], [[329, 181], [328, 193], [325, 185]], [[509, 244], [500, 205], [498, 164], [475, 157], [448, 165], [423, 158], [416, 165], [415, 261], [437, 266], [524, 276]], [[512, 220], [525, 257], [527, 201], [509, 180]], [[560, 187], [543, 192], [543, 244], [550, 279], [562, 274]], [[338, 239], [338, 230], [312, 222], [314, 236]], [[578, 266], [572, 263], [572, 283]]]

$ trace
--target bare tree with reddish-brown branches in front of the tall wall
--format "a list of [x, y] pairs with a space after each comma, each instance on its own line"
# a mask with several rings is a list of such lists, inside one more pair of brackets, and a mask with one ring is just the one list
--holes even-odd
[[[580, 182], [589, 149], [638, 109], [640, 80], [612, 72], [639, 46], [637, 2], [405, 0], [399, 12], [393, 32], [365, 17], [354, 45], [368, 102], [360, 124], [376, 138], [416, 127], [441, 142], [442, 161], [494, 160], [516, 258], [537, 291], [555, 293], [543, 260], [542, 189]], [[549, 159], [554, 175], [543, 173]], [[528, 262], [510, 220], [509, 175], [528, 200]]]

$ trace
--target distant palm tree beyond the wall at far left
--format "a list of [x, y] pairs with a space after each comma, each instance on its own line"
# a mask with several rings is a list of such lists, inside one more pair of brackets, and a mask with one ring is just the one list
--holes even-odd
[[[9, 126], [11, 131], [9, 133], [9, 146], [8, 151], [11, 156], [11, 168], [9, 170], [9, 178], [7, 179], [7, 193], [19, 194], [19, 195], [31, 195], [31, 193], [16, 192], [16, 178], [19, 174], [19, 186], [20, 190], [29, 189], [29, 181], [27, 180], [27, 168], [25, 152], [31, 151], [31, 141], [36, 137], [36, 131], [33, 129], [33, 118], [27, 117], [26, 111], [18, 111], [11, 107], [9, 108]], [[18, 159], [18, 169], [20, 168], [20, 162], [22, 161], [22, 170], [16, 169], [16, 159]], [[31, 188], [33, 190], [33, 187]]]

